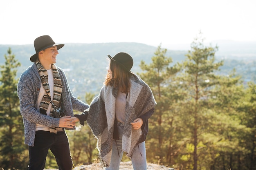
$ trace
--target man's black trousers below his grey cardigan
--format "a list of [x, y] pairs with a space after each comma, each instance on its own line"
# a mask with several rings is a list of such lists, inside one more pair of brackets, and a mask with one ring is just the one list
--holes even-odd
[[73, 162], [65, 132], [36, 131], [35, 144], [29, 146], [29, 170], [43, 170], [48, 150], [55, 156], [59, 170], [72, 170]]

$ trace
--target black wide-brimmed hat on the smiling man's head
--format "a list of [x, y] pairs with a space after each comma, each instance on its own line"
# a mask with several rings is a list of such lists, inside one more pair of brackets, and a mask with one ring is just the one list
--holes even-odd
[[55, 44], [55, 42], [52, 40], [52, 38], [49, 35], [43, 35], [34, 41], [34, 47], [36, 50], [36, 53], [30, 57], [31, 62], [35, 62], [36, 58], [38, 57], [38, 53], [42, 50], [45, 50], [49, 47], [57, 46], [57, 50], [61, 49], [64, 44]]

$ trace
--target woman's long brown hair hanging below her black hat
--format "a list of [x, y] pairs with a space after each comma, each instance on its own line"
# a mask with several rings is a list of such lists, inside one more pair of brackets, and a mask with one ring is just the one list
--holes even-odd
[[128, 93], [130, 90], [131, 74], [113, 60], [110, 60], [109, 69], [112, 71], [112, 79], [108, 72], [104, 84], [106, 86], [114, 86], [122, 93]]

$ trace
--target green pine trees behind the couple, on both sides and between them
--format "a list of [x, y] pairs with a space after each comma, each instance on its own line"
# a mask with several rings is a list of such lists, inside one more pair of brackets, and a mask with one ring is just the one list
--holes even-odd
[[[220, 75], [218, 46], [199, 36], [182, 62], [173, 63], [161, 45], [137, 73], [153, 91], [157, 106], [149, 119], [147, 160], [177, 170], [256, 170], [256, 85], [232, 71]], [[20, 63], [9, 48], [0, 66], [0, 168], [25, 169], [28, 147], [16, 93]], [[95, 94], [86, 93], [89, 103]], [[79, 113], [75, 113], [79, 114]], [[88, 126], [66, 131], [74, 166], [97, 162], [97, 140]], [[129, 158], [123, 157], [122, 161]], [[45, 168], [56, 168], [49, 153]]]

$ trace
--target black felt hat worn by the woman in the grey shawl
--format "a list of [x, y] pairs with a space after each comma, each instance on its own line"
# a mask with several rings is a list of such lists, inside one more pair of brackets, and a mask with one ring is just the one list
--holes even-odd
[[130, 69], [133, 66], [133, 59], [132, 59], [132, 56], [130, 56], [130, 54], [125, 52], [120, 52], [120, 53], [117, 53], [114, 57], [111, 57], [110, 55], [108, 55], [108, 57], [111, 60], [120, 64], [122, 68], [124, 68], [126, 71], [134, 74], [132, 71], [130, 71]]

